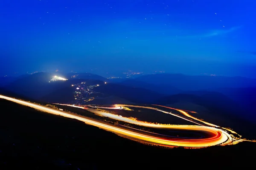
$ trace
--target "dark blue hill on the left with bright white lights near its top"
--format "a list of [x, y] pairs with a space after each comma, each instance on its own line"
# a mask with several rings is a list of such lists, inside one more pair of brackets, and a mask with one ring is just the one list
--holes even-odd
[[[50, 82], [49, 81], [53, 78], [53, 76], [58, 75], [64, 78], [67, 78], [66, 81], [55, 81]], [[74, 74], [73, 74], [74, 75]], [[79, 74], [76, 74], [79, 75]], [[65, 93], [68, 93], [69, 91], [64, 91], [63, 89], [68, 89], [72, 84], [80, 83], [84, 80], [90, 80], [93, 85], [94, 84], [103, 84], [101, 80], [106, 80], [104, 77], [95, 75], [95, 74], [81, 74], [81, 76], [71, 77], [71, 74], [57, 74], [57, 73], [35, 73], [35, 74], [26, 74], [25, 76], [21, 77], [15, 77], [12, 79], [11, 82], [6, 83], [3, 88], [6, 89], [6, 91], [11, 91], [16, 94], [20, 94], [23, 96], [26, 96], [28, 98], [32, 99], [42, 99], [44, 96], [46, 96], [50, 93], [58, 93], [58, 91], [62, 91], [64, 93], [61, 93], [61, 95], [65, 95]], [[101, 79], [101, 80], [97, 80]], [[59, 95], [57, 95], [59, 96]], [[52, 97], [56, 97], [55, 95], [52, 95]], [[51, 98], [51, 97], [50, 97]], [[60, 99], [63, 99], [62, 97], [59, 97]]]

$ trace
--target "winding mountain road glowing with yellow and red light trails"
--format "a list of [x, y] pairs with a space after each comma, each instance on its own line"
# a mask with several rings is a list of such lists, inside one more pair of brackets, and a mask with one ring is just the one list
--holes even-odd
[[[166, 135], [151, 133], [151, 132], [134, 129], [134, 128], [130, 128], [130, 127], [113, 125], [111, 123], [107, 123], [107, 122], [100, 121], [97, 119], [89, 118], [86, 116], [81, 116], [81, 115], [78, 115], [75, 113], [69, 113], [66, 111], [57, 110], [54, 108], [49, 108], [49, 107], [46, 107], [43, 105], [38, 105], [35, 103], [26, 102], [26, 101], [23, 101], [20, 99], [14, 99], [14, 98], [7, 97], [7, 96], [0, 95], [0, 98], [18, 103], [20, 105], [29, 106], [29, 107], [35, 108], [39, 111], [43, 111], [43, 112], [47, 112], [47, 113], [51, 113], [51, 114], [55, 114], [55, 115], [60, 115], [60, 116], [64, 116], [64, 117], [68, 117], [68, 118], [72, 118], [72, 119], [77, 119], [77, 120], [80, 120], [80, 121], [86, 123], [87, 125], [93, 125], [93, 126], [102, 128], [104, 130], [108, 130], [113, 133], [116, 133], [119, 136], [123, 136], [123, 137], [129, 138], [129, 139], [133, 139], [133, 140], [140, 141], [140, 142], [147, 143], [147, 144], [155, 144], [155, 145], [161, 145], [161, 146], [166, 146], [166, 147], [200, 148], [200, 147], [209, 147], [209, 146], [213, 146], [213, 145], [236, 144], [239, 141], [238, 139], [235, 139], [233, 137], [233, 135], [230, 135], [227, 130], [222, 130], [222, 129], [218, 128], [218, 126], [212, 125], [212, 124], [209, 124], [209, 125], [212, 125], [214, 127], [204, 126], [204, 125], [168, 125], [167, 126], [167, 125], [159, 125], [159, 124], [152, 124], [152, 123], [145, 123], [145, 122], [144, 123], [142, 122], [140, 124], [140, 122], [138, 122], [138, 121], [137, 121], [137, 123], [136, 123], [136, 121], [129, 122], [129, 123], [133, 123], [133, 124], [137, 124], [137, 125], [141, 125], [141, 126], [147, 126], [147, 127], [168, 128], [169, 130], [173, 130], [173, 131], [175, 131], [175, 130], [191, 131], [191, 132], [195, 132], [195, 133], [206, 134], [206, 136], [207, 136], [205, 138], [179, 138], [177, 136], [166, 136]], [[69, 106], [88, 109], [85, 107], [74, 106], [74, 105], [69, 105]], [[142, 106], [134, 106], [134, 105], [116, 105], [116, 108], [118, 108], [118, 107], [122, 108], [122, 106], [142, 107]], [[150, 107], [147, 107], [147, 108], [152, 109]], [[93, 112], [92, 110], [93, 109], [90, 109], [89, 111]], [[156, 109], [156, 108], [155, 108], [155, 110], [162, 111], [162, 110]], [[97, 110], [95, 110], [95, 112], [97, 112]], [[163, 112], [165, 112], [165, 111], [163, 111]], [[167, 113], [169, 113], [169, 112], [167, 112]], [[99, 114], [103, 114], [103, 113], [99, 113]], [[109, 116], [110, 116], [110, 114], [108, 114], [108, 117]], [[128, 122], [127, 119], [125, 119], [125, 118], [122, 119], [121, 116], [118, 116], [118, 115], [115, 115], [115, 116], [119, 117], [119, 120]], [[186, 119], [183, 117], [181, 117], [181, 118]], [[113, 117], [113, 119], [115, 119], [115, 117]], [[191, 121], [189, 119], [187, 119], [187, 120]], [[203, 122], [203, 123], [205, 123], [205, 122]], [[242, 139], [240, 139], [240, 140], [242, 140]]]

